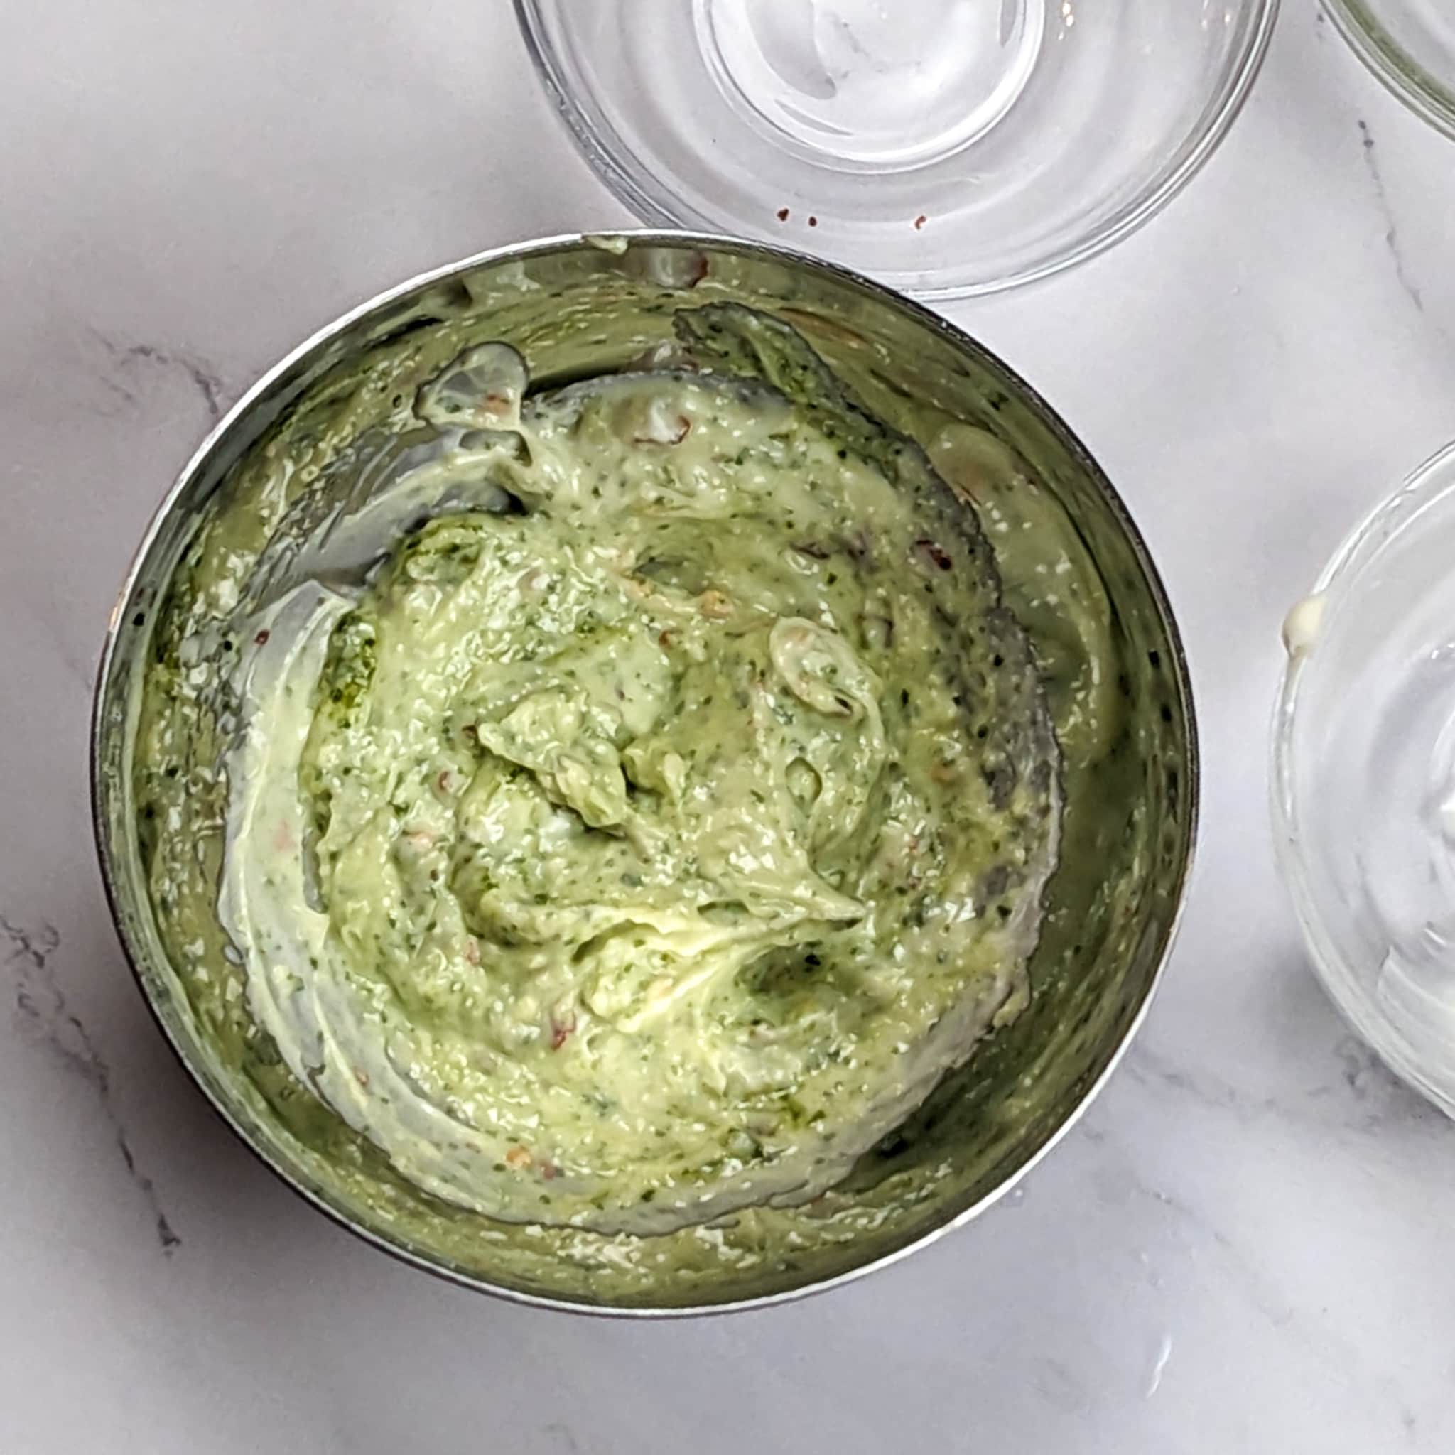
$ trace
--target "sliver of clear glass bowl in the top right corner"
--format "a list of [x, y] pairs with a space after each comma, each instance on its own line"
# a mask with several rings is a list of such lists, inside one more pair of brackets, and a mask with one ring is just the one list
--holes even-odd
[[1324, 9], [1400, 100], [1455, 137], [1455, 7], [1449, 0], [1324, 0]]

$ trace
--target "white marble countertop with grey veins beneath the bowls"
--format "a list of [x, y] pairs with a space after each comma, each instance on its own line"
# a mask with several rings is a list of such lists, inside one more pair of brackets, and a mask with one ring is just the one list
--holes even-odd
[[[208, 420], [420, 268], [626, 221], [503, 0], [54, 0], [0, 87], [0, 1451], [1455, 1448], [1455, 1128], [1273, 879], [1283, 608], [1455, 435], [1455, 147], [1288, 0], [1149, 227], [949, 310], [1117, 482], [1200, 690], [1205, 837], [1129, 1061], [970, 1229], [761, 1315], [531, 1312], [306, 1208], [154, 1032], [92, 858], [106, 611]], [[509, 119], [508, 118], [514, 118]]]

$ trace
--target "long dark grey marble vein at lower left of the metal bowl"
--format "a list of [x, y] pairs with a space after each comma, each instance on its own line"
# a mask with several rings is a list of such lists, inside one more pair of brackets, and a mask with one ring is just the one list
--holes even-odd
[[157, 1244], [164, 1256], [170, 1256], [182, 1245], [182, 1240], [162, 1209], [156, 1184], [137, 1165], [131, 1139], [116, 1107], [111, 1067], [80, 1017], [67, 1005], [65, 992], [51, 968], [51, 957], [61, 944], [60, 931], [44, 920], [38, 927], [28, 928], [0, 915], [0, 936], [3, 936], [0, 946], [3, 960], [15, 975], [16, 1020], [36, 1043], [44, 1045], [68, 1072], [96, 1093], [102, 1115], [116, 1139], [116, 1151], [127, 1176], [137, 1184], [151, 1211]]

